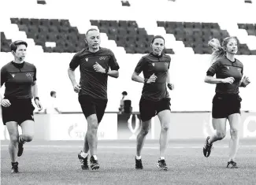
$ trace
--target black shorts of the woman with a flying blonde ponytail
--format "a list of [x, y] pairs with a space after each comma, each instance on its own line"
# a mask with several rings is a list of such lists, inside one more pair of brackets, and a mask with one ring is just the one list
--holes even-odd
[[242, 98], [239, 94], [215, 94], [213, 97], [213, 118], [228, 118], [233, 113], [240, 113]]

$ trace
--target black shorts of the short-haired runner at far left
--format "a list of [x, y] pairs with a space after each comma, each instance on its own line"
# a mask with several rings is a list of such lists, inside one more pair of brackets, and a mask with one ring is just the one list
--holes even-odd
[[[8, 98], [7, 98], [8, 99]], [[2, 122], [16, 121], [19, 125], [25, 120], [34, 120], [34, 105], [32, 99], [8, 99], [11, 105], [2, 106]]]

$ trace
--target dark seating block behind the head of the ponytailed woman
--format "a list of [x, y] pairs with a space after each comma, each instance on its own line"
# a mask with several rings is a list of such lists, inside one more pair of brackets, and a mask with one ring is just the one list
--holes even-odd
[[[183, 41], [186, 47], [192, 47], [195, 54], [211, 54], [208, 41], [217, 38], [222, 43], [229, 36], [228, 31], [221, 30], [217, 23], [158, 21], [158, 27], [164, 27], [176, 40]], [[250, 51], [246, 44], [240, 44], [238, 54], [250, 55], [255, 52]]]

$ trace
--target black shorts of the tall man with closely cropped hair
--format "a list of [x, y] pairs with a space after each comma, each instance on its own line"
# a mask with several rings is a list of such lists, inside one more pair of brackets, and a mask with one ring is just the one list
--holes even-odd
[[102, 121], [108, 102], [107, 99], [92, 98], [90, 95], [82, 94], [78, 97], [78, 101], [86, 118], [96, 114], [98, 123]]

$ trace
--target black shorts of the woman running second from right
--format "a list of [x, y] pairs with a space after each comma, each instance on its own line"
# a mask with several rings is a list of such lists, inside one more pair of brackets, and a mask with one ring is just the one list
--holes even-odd
[[163, 110], [171, 110], [170, 98], [162, 98], [158, 102], [140, 98], [139, 113], [141, 120], [147, 121]]

